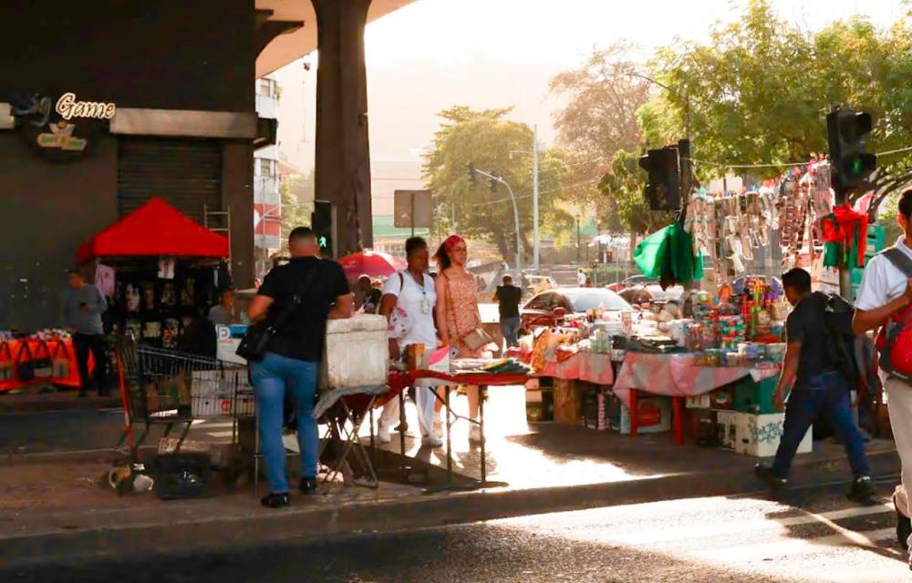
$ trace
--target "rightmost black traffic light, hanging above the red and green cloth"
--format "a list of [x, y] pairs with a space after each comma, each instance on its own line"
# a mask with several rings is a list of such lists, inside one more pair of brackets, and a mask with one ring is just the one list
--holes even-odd
[[870, 188], [868, 180], [877, 168], [876, 156], [865, 152], [865, 136], [871, 128], [871, 114], [855, 109], [834, 109], [826, 116], [830, 176], [839, 201], [853, 191]]

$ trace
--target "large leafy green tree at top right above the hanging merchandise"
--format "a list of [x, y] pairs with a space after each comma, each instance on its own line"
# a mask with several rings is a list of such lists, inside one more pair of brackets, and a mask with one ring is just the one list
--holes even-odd
[[[645, 134], [668, 139], [669, 128], [680, 136], [689, 114], [696, 159], [783, 164], [824, 153], [825, 114], [847, 106], [876, 119], [873, 151], [896, 148], [912, 129], [910, 48], [906, 19], [879, 30], [855, 16], [810, 34], [775, 15], [767, 0], [751, 0], [705, 43], [658, 50], [651, 66], [670, 90], [640, 120]], [[782, 169], [759, 171], [765, 178]]]

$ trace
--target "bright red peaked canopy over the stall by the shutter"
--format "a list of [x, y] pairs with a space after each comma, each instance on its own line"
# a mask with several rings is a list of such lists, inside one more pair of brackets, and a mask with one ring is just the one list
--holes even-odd
[[228, 257], [228, 238], [206, 229], [162, 199], [149, 202], [79, 245], [76, 258]]

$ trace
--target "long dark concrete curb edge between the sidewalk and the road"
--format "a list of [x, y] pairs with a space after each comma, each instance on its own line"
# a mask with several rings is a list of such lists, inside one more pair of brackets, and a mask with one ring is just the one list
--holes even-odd
[[[870, 455], [869, 459], [876, 476], [898, 472], [898, 458], [894, 452]], [[845, 460], [801, 465], [796, 467], [795, 474], [798, 484], [847, 482], [851, 476]], [[217, 517], [195, 516], [193, 508], [184, 507], [182, 513], [161, 512], [155, 522], [138, 521], [113, 527], [56, 527], [0, 537], [0, 569], [38, 562], [47, 564], [49, 560], [184, 554], [220, 547], [441, 527], [567, 510], [762, 491], [762, 485], [752, 473], [745, 475], [739, 470], [585, 486], [409, 496], [334, 506], [293, 506], [283, 511], [251, 507], [239, 509], [231, 516]], [[204, 511], [205, 508], [198, 506], [195, 510]]]

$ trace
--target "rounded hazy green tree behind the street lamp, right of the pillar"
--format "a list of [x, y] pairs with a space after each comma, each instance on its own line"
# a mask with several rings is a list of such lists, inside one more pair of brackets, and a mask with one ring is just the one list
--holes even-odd
[[[489, 188], [488, 179], [469, 179], [466, 165], [474, 164], [502, 177], [513, 188], [520, 215], [521, 245], [532, 251], [532, 129], [505, 119], [509, 108], [476, 111], [454, 106], [440, 112], [443, 123], [434, 137], [434, 148], [426, 155], [424, 178], [434, 192], [438, 210], [436, 230], [459, 230], [461, 234], [491, 240], [503, 255], [515, 254], [515, 221], [510, 194], [503, 185]], [[513, 151], [513, 154], [511, 154]], [[562, 153], [545, 150], [539, 156], [539, 187], [544, 230], [570, 230], [574, 221], [557, 204], [565, 174]], [[455, 223], [453, 222], [455, 220]]]

